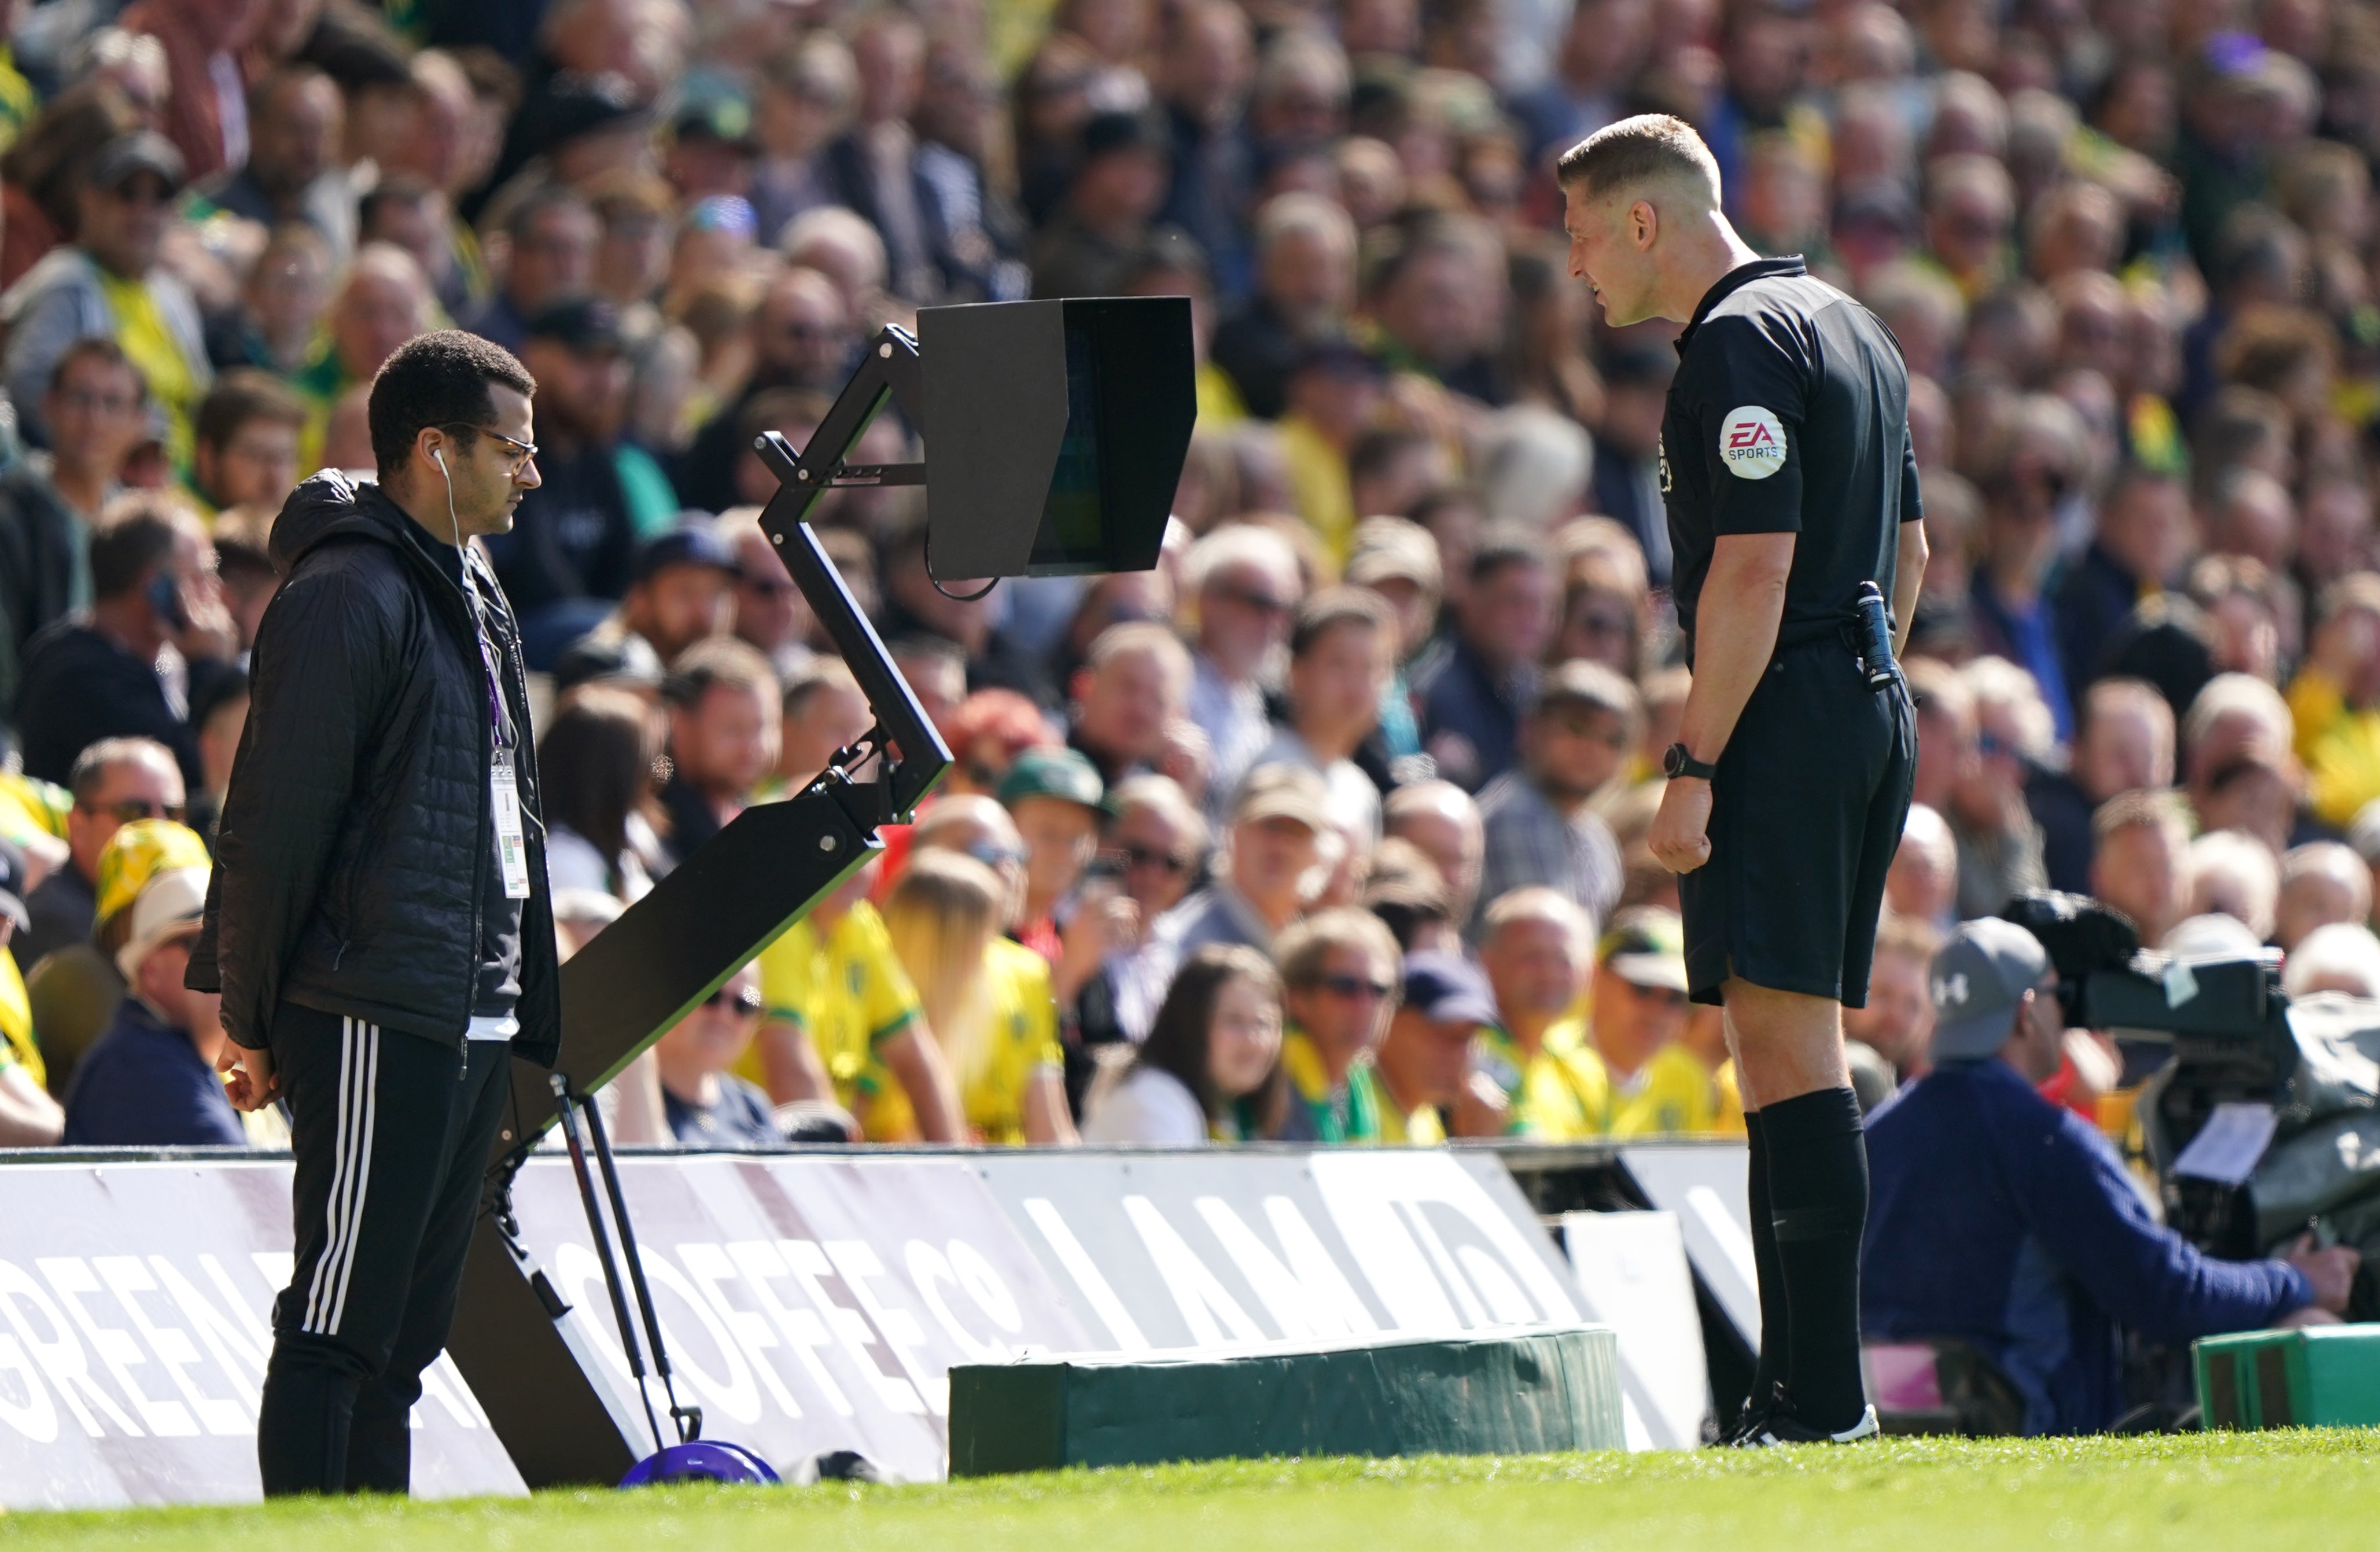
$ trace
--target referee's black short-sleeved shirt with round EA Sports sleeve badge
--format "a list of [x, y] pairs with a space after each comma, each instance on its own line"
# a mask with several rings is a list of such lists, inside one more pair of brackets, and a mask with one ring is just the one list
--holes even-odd
[[1833, 633], [1859, 583], [1892, 597], [1916, 521], [1909, 367], [1873, 312], [1799, 257], [1730, 269], [1678, 336], [1661, 493], [1687, 659], [1721, 533], [1797, 533], [1778, 645]]

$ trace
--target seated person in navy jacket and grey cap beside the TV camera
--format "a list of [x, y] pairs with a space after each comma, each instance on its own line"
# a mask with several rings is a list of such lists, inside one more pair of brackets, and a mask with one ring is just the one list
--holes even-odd
[[1959, 926], [1933, 962], [1935, 1069], [1868, 1116], [1868, 1343], [1959, 1338], [2025, 1400], [2025, 1433], [2125, 1412], [2121, 1333], [2159, 1343], [2330, 1323], [2356, 1252], [2218, 1262], [2149, 1212], [2116, 1147], [2042, 1100], [2056, 971], [2011, 921]]

